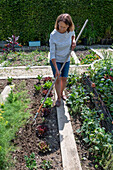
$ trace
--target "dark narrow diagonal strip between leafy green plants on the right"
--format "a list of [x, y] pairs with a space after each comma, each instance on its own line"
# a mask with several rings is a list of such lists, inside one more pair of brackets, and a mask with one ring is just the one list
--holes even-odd
[[101, 110], [104, 114], [104, 120], [102, 120], [102, 126], [106, 128], [107, 131], [112, 132], [113, 130], [113, 119], [111, 117], [111, 114], [109, 110], [107, 109], [106, 105], [101, 99], [101, 96], [98, 94], [95, 87], [92, 87], [91, 80], [88, 78], [88, 76], [84, 73], [83, 74], [83, 80], [85, 82], [86, 88], [90, 90], [94, 94], [93, 99], [95, 106], [98, 110]]

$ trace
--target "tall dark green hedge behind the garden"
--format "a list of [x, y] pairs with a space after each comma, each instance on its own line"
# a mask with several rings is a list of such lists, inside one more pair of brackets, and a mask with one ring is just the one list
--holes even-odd
[[23, 45], [33, 40], [47, 44], [61, 13], [72, 16], [76, 33], [89, 19], [82, 37], [113, 38], [112, 0], [1, 0], [0, 40], [15, 34]]

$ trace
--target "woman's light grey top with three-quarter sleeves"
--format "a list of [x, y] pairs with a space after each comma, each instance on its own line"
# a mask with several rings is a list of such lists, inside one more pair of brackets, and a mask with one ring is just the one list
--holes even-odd
[[[64, 63], [71, 47], [74, 31], [59, 33], [56, 29], [50, 34], [50, 60], [56, 59], [56, 62]], [[70, 61], [70, 57], [67, 61]]]

